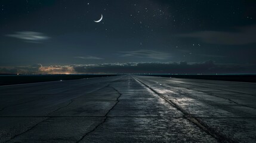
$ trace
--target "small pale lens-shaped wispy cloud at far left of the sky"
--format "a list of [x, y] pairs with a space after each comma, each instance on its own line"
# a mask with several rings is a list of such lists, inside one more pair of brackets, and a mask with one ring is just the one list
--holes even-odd
[[6, 35], [6, 36], [22, 39], [24, 42], [30, 42], [30, 43], [40, 43], [50, 38], [44, 35], [44, 33], [32, 32], [32, 31], [16, 32], [15, 34]]

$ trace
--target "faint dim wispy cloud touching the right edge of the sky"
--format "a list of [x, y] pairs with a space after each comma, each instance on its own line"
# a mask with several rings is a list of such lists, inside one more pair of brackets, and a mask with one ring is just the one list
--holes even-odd
[[201, 31], [180, 35], [187, 38], [198, 38], [206, 43], [223, 45], [245, 45], [256, 43], [256, 25], [240, 27], [236, 32]]

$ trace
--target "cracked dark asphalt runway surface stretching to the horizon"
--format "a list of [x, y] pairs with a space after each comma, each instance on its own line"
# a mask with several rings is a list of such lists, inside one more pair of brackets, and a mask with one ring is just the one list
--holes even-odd
[[0, 86], [0, 142], [256, 142], [256, 84], [112, 76]]

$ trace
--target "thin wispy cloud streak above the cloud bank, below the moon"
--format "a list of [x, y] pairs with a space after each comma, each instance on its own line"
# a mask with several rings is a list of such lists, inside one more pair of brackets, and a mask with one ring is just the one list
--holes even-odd
[[168, 53], [158, 52], [146, 49], [140, 49], [137, 51], [119, 52], [120, 57], [135, 57], [135, 58], [152, 58], [158, 60], [166, 60], [171, 57]]

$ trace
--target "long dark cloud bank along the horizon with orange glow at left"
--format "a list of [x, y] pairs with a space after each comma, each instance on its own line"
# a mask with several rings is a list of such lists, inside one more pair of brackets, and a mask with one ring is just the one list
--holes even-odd
[[214, 61], [203, 63], [104, 63], [71, 64], [67, 66], [0, 67], [1, 74], [86, 74], [86, 73], [172, 73], [172, 74], [240, 74], [256, 73], [256, 64], [218, 64]]

